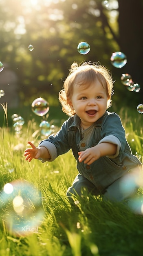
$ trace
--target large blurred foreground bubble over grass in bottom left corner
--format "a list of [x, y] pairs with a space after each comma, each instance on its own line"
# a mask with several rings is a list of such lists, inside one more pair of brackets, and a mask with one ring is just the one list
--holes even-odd
[[26, 236], [38, 231], [43, 217], [41, 192], [33, 184], [15, 180], [4, 185], [0, 212], [9, 233]]

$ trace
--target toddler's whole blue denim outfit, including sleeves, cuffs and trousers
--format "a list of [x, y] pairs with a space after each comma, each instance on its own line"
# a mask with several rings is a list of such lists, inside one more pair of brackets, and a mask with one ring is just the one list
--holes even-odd
[[[72, 149], [79, 174], [68, 189], [67, 196], [81, 195], [81, 189], [84, 187], [89, 193], [103, 195], [109, 200], [121, 201], [128, 198], [140, 187], [142, 164], [132, 155], [120, 117], [116, 113], [106, 111], [92, 125], [92, 130], [85, 141], [80, 123], [77, 115], [69, 117], [56, 135], [50, 135], [48, 139], [40, 142], [39, 146], [46, 147], [51, 155], [51, 159], [41, 159], [42, 162], [52, 162], [59, 155]], [[109, 142], [109, 137], [110, 143], [117, 144], [119, 148], [116, 155], [100, 157], [90, 165], [84, 164], [84, 161], [79, 162], [79, 151], [94, 147], [102, 141]]]

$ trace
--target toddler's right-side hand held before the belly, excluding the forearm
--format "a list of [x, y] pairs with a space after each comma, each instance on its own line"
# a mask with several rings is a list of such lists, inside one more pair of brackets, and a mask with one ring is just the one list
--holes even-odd
[[79, 162], [84, 161], [84, 164], [92, 164], [99, 157], [101, 157], [101, 153], [99, 150], [96, 150], [95, 147], [87, 148], [85, 151], [78, 152], [79, 154]]

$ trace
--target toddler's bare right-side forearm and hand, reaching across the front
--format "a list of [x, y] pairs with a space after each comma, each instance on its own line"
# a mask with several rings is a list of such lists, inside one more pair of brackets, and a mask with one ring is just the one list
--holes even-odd
[[84, 161], [84, 164], [92, 164], [97, 159], [105, 155], [115, 155], [116, 150], [116, 144], [103, 142], [92, 148], [87, 148], [85, 151], [78, 152], [79, 162]]

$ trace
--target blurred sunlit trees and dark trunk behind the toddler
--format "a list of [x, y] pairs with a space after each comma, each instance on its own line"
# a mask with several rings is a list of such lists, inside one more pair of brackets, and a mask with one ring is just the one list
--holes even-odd
[[[58, 92], [74, 61], [99, 62], [110, 70], [114, 106], [143, 103], [142, 15], [143, 0], [0, 0], [0, 61], [18, 77], [19, 106], [38, 97], [59, 106]], [[86, 55], [77, 51], [81, 41], [90, 45]], [[110, 63], [117, 51], [127, 56], [122, 68]], [[139, 83], [139, 92], [121, 83], [123, 73]]]

